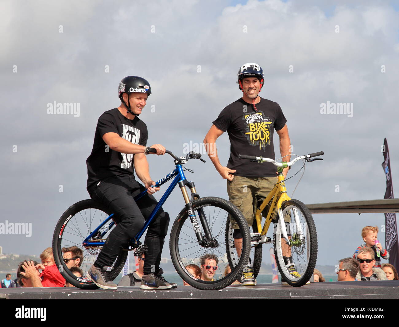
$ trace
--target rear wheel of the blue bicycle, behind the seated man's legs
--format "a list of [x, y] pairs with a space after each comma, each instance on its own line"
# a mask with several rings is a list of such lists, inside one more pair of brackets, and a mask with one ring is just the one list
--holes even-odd
[[[94, 200], [83, 200], [70, 206], [59, 218], [57, 226], [53, 235], [53, 255], [55, 264], [59, 267], [61, 275], [67, 282], [73, 286], [81, 289], [97, 289], [91, 280], [85, 277], [87, 270], [93, 265], [100, 253], [102, 246], [83, 246], [83, 240], [95, 230], [111, 212], [102, 204]], [[104, 232], [109, 228], [110, 220], [101, 230]], [[113, 226], [113, 228], [115, 225]], [[101, 237], [100, 233], [97, 234], [91, 241], [105, 242], [112, 228]], [[100, 239], [102, 241], [100, 241]], [[76, 246], [83, 252], [83, 260], [79, 262], [79, 269], [81, 270], [82, 277], [76, 276], [69, 270], [63, 261], [63, 248], [70, 248]], [[122, 251], [113, 264], [113, 270], [110, 273], [111, 279], [115, 279], [121, 272], [127, 258], [127, 251]]]

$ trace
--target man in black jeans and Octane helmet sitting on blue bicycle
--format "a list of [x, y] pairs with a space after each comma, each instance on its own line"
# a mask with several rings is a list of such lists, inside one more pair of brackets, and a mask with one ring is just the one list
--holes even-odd
[[[118, 93], [120, 106], [100, 116], [93, 150], [86, 161], [89, 175], [87, 190], [91, 198], [103, 203], [115, 214], [116, 226], [86, 275], [103, 289], [117, 289], [109, 277], [112, 265], [158, 204], [151, 194], [159, 188], [152, 188], [155, 182], [150, 177], [145, 156], [149, 149], [146, 147], [147, 126], [138, 118], [151, 94], [150, 84], [144, 78], [128, 76], [120, 81]], [[157, 155], [165, 154], [162, 145], [151, 147], [156, 149]], [[145, 186], [136, 181], [134, 168]], [[146, 189], [148, 194], [136, 203], [134, 196]], [[175, 283], [168, 283], [162, 277], [162, 269], [159, 268], [168, 224], [169, 215], [161, 208], [148, 227], [144, 240], [148, 250], [140, 285], [142, 289], [176, 287]]]

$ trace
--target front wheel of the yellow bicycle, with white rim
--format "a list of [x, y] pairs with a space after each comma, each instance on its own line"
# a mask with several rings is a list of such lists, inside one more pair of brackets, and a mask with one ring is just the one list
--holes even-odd
[[279, 219], [273, 237], [276, 263], [282, 278], [289, 285], [302, 286], [312, 277], [316, 266], [316, 227], [309, 209], [299, 200], [285, 201], [281, 209], [282, 217], [290, 219], [289, 223], [285, 222], [289, 242], [282, 237], [282, 222]]

